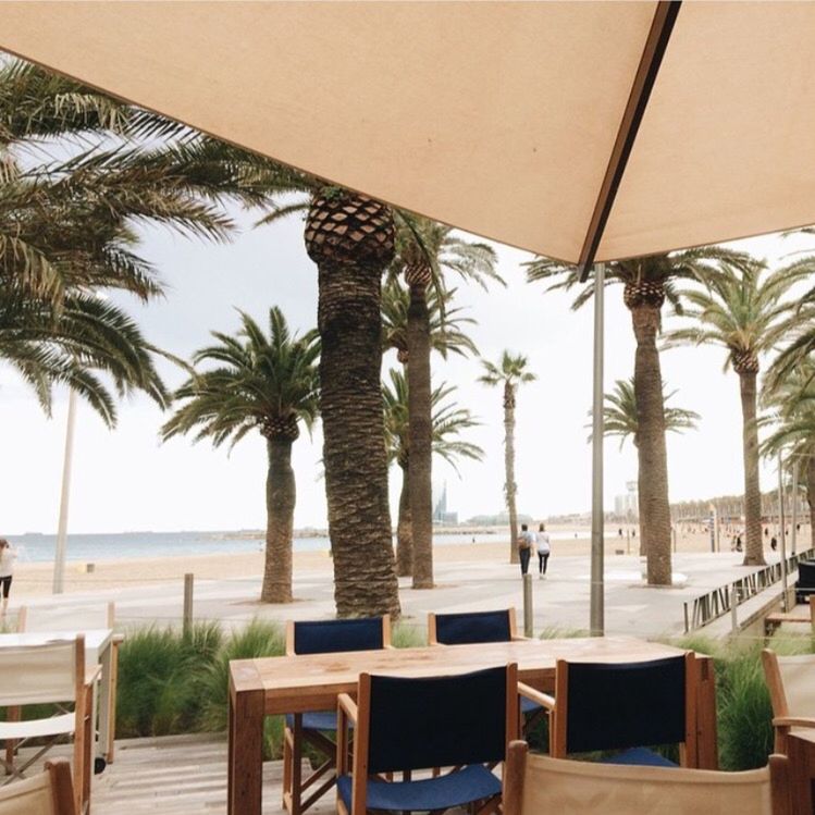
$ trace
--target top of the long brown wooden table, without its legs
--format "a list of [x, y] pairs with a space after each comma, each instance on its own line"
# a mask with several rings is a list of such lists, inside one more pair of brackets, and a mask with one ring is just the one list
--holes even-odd
[[628, 637], [353, 651], [236, 659], [230, 663], [230, 684], [233, 696], [262, 691], [267, 714], [304, 713], [332, 708], [337, 694], [356, 690], [361, 672], [427, 677], [518, 663], [520, 679], [552, 689], [558, 658], [642, 662], [682, 653], [670, 645]]

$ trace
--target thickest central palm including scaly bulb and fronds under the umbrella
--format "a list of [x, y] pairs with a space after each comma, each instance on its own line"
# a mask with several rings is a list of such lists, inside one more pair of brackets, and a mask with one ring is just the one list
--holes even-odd
[[271, 208], [261, 223], [306, 212], [306, 251], [318, 270], [320, 413], [337, 615], [398, 617], [381, 383], [381, 282], [395, 251], [393, 211], [272, 162], [252, 185]]

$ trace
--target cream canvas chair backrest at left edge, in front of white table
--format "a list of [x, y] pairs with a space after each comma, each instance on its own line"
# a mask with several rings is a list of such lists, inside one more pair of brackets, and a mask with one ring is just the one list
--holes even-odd
[[85, 638], [0, 649], [0, 705], [77, 699], [85, 674]]

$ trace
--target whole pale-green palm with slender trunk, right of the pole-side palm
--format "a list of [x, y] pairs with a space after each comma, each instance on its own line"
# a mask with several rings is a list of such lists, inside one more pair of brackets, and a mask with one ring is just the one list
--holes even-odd
[[719, 345], [727, 350], [725, 370], [739, 376], [744, 461], [744, 565], [763, 565], [762, 493], [758, 481], [757, 378], [761, 355], [786, 331], [791, 304], [785, 295], [803, 272], [789, 268], [767, 271], [763, 262], [723, 268], [707, 275], [705, 288], [682, 292], [690, 307], [683, 317], [695, 325], [668, 334], [669, 344]]

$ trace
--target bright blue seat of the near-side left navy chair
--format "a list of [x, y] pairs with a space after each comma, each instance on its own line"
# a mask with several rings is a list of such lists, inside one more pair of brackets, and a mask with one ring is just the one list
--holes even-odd
[[[341, 776], [337, 789], [350, 811], [351, 777]], [[446, 810], [501, 794], [501, 779], [472, 764], [456, 773], [419, 781], [368, 781], [368, 808], [406, 812]]]

